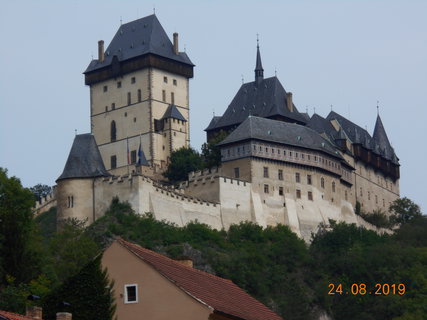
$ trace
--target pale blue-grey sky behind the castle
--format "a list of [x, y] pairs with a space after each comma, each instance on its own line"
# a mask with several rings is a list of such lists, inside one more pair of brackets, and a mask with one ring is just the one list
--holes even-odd
[[301, 112], [331, 110], [372, 134], [377, 100], [400, 158], [401, 196], [427, 211], [427, 1], [2, 1], [0, 167], [25, 186], [54, 185], [78, 133], [90, 131], [82, 72], [123, 23], [153, 13], [196, 65], [191, 144], [205, 142], [242, 77], [275, 70]]

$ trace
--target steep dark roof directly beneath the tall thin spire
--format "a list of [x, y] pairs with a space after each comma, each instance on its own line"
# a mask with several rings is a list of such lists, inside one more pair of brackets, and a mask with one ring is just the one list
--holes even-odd
[[290, 121], [305, 124], [307, 121], [295, 105], [293, 110], [293, 112], [289, 111], [286, 91], [277, 77], [261, 79], [258, 82], [242, 84], [214, 128], [239, 125], [249, 115], [263, 118], [284, 117]]

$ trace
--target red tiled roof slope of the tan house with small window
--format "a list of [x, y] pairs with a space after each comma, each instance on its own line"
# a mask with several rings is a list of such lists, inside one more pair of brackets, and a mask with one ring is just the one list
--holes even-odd
[[218, 312], [245, 320], [283, 320], [230, 280], [184, 266], [123, 239], [117, 241], [187, 294]]

